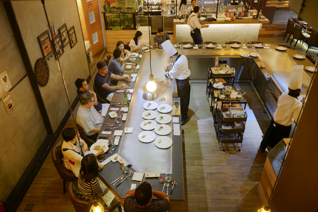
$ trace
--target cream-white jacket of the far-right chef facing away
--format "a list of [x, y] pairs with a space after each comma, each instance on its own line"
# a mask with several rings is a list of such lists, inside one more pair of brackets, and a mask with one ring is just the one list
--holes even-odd
[[295, 119], [298, 120], [302, 107], [302, 103], [298, 99], [289, 96], [288, 93], [283, 93], [278, 99], [277, 105], [273, 116], [276, 123], [290, 126]]

